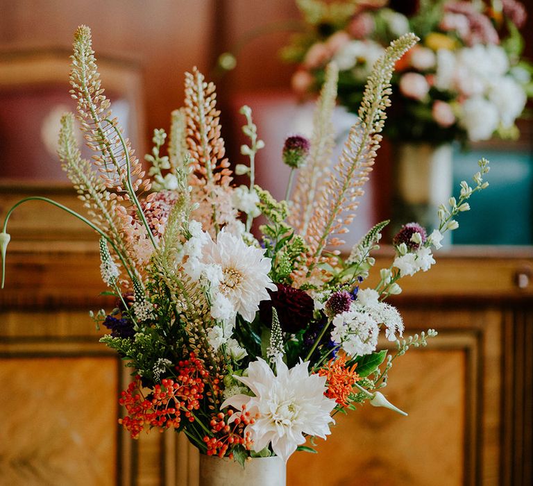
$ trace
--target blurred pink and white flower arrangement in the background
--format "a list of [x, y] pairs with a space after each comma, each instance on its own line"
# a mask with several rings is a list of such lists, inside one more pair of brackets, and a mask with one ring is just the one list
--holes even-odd
[[366, 76], [391, 39], [421, 42], [396, 63], [393, 109], [384, 133], [401, 142], [477, 142], [518, 137], [515, 120], [533, 96], [532, 65], [521, 59], [526, 19], [516, 0], [297, 0], [307, 31], [285, 57], [298, 62], [294, 90], [314, 92], [331, 60], [339, 101], [356, 113]]

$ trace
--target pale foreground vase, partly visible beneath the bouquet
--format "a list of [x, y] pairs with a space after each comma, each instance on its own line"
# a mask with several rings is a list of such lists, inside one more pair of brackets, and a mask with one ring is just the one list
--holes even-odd
[[232, 459], [200, 455], [200, 486], [285, 486], [281, 458], [251, 458], [244, 468]]

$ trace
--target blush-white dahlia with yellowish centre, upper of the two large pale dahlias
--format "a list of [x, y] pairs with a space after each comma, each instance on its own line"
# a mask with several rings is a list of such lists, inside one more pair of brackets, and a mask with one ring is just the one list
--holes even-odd
[[223, 278], [219, 292], [248, 322], [253, 321], [260, 301], [270, 299], [267, 289], [277, 289], [268, 275], [271, 260], [263, 255], [263, 249], [247, 246], [226, 231], [219, 233], [216, 243], [209, 240], [203, 246], [201, 262], [220, 265]]

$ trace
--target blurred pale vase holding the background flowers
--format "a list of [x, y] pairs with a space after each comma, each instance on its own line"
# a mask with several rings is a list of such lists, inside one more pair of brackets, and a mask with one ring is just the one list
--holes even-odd
[[393, 152], [394, 229], [412, 221], [438, 228], [438, 207], [452, 195], [452, 146], [400, 143]]

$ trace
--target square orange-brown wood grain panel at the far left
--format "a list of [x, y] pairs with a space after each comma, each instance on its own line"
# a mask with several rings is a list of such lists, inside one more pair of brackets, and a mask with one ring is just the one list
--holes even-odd
[[115, 358], [3, 358], [0, 380], [3, 484], [115, 484]]

